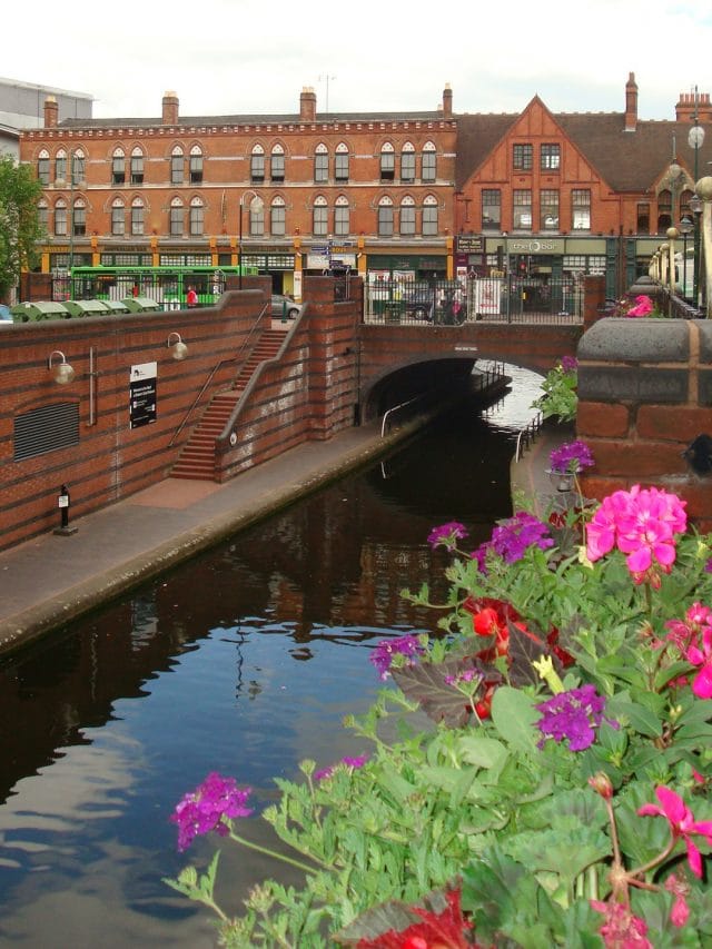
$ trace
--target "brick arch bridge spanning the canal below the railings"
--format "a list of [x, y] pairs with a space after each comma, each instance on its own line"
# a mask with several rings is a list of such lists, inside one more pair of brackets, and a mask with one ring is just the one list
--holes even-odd
[[479, 360], [512, 363], [544, 375], [575, 356], [583, 325], [487, 324], [360, 326], [358, 393], [362, 421], [424, 389], [464, 379]]

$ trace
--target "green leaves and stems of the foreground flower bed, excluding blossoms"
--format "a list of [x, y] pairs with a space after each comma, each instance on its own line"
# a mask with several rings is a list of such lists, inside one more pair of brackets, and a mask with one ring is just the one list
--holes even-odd
[[[611, 876], [619, 867], [636, 876], [626, 906], [656, 949], [710, 945], [706, 880], [688, 869], [685, 841], [668, 821], [639, 809], [665, 784], [696, 821], [712, 820], [712, 700], [692, 693], [692, 666], [665, 640], [666, 623], [693, 601], [712, 602], [711, 554], [712, 537], [680, 538], [654, 603], [619, 552], [591, 564], [533, 546], [512, 564], [492, 557], [486, 574], [455, 557], [441, 633], [419, 664], [394, 668], [398, 688], [348, 723], [373, 743], [366, 764], [340, 763], [318, 780], [304, 762], [298, 780], [276, 781], [278, 803], [263, 817], [284, 854], [299, 856], [303, 886], [268, 881], [234, 919], [214, 901], [215, 860], [170, 884], [218, 913], [226, 946], [377, 940], [414, 926], [413, 907], [442, 906], [433, 894], [459, 887], [476, 945], [590, 949], [602, 945], [604, 921], [592, 900], [622, 886]], [[413, 599], [427, 604], [427, 589]], [[506, 601], [522, 617], [507, 621], [511, 665], [473, 635], [481, 600]], [[573, 660], [566, 668], [550, 646], [554, 631]], [[475, 712], [481, 680], [467, 679], [471, 692], [458, 685], [471, 671], [496, 679], [488, 715]], [[537, 728], [555, 674], [564, 690], [589, 684], [605, 696], [605, 720], [581, 751]], [[231, 836], [245, 842], [234, 827]], [[695, 844], [710, 851], [703, 836]], [[688, 893], [684, 927], [671, 921], [672, 873]]]

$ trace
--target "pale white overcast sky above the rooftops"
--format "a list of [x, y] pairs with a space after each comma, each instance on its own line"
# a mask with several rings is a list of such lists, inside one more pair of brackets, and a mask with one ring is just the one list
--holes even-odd
[[[712, 92], [712, 4], [668, 0], [96, 0], [12, 4], [0, 76], [87, 92], [97, 118], [317, 111], [623, 111]], [[27, 22], [20, 27], [21, 20]], [[41, 26], [40, 26], [41, 24]], [[31, 39], [30, 39], [31, 37]], [[328, 93], [328, 101], [327, 101]]]

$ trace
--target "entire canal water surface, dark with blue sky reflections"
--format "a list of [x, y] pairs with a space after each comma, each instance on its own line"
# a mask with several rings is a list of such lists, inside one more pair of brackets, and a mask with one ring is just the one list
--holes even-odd
[[[251, 787], [246, 836], [275, 775], [369, 751], [343, 728], [382, 683], [388, 635], [434, 630], [403, 587], [444, 594], [427, 535], [474, 548], [511, 513], [508, 466], [540, 377], [463, 406], [413, 442], [0, 664], [0, 943], [211, 947], [207, 909], [161, 882], [207, 866], [217, 838], [176, 850], [169, 815], [210, 771]], [[290, 878], [226, 843], [219, 899]]]

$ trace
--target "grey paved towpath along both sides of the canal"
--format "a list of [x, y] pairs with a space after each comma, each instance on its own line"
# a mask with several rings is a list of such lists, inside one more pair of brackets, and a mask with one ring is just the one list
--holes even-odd
[[[0, 653], [68, 623], [170, 565], [261, 520], [322, 484], [367, 464], [409, 432], [377, 426], [309, 442], [227, 484], [168, 478], [77, 520], [77, 532], [42, 534], [0, 552]], [[512, 487], [551, 494], [545, 432], [512, 469]], [[59, 513], [58, 513], [59, 526]]]

